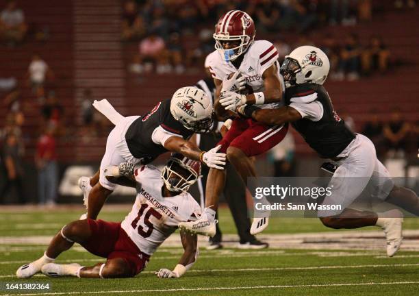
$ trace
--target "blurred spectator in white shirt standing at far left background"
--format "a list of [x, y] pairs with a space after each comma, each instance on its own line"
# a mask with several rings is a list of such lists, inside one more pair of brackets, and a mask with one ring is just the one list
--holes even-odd
[[27, 69], [27, 77], [29, 77], [29, 82], [31, 83], [34, 94], [41, 102], [45, 99], [44, 84], [47, 75], [53, 75], [48, 64], [42, 60], [38, 54], [34, 54], [31, 63], [29, 64], [29, 68]]

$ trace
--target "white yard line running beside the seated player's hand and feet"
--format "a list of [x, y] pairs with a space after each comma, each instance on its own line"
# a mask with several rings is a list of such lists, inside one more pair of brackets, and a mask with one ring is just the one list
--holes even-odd
[[[69, 261], [70, 262], [70, 261]], [[74, 262], [71, 260], [71, 262]], [[313, 270], [313, 269], [360, 269], [360, 268], [379, 268], [379, 267], [417, 267], [419, 263], [401, 264], [364, 264], [364, 265], [329, 265], [313, 267], [264, 267], [264, 268], [242, 268], [242, 269], [191, 269], [188, 273], [217, 273], [233, 271], [292, 271], [292, 270]], [[155, 271], [142, 271], [142, 273], [155, 273]], [[43, 275], [35, 275], [43, 277]], [[0, 278], [16, 277], [16, 275], [0, 275]]]

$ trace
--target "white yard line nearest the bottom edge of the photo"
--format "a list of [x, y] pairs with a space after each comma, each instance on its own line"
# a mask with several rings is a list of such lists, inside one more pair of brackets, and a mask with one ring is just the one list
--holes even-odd
[[223, 291], [223, 290], [256, 290], [267, 288], [321, 288], [335, 286], [384, 286], [399, 284], [419, 284], [419, 282], [365, 282], [365, 283], [341, 283], [341, 284], [305, 284], [305, 285], [270, 285], [270, 286], [230, 286], [230, 287], [196, 287], [196, 288], [165, 288], [153, 290], [116, 290], [116, 291], [92, 291], [92, 292], [51, 292], [51, 293], [26, 293], [5, 294], [3, 296], [31, 296], [31, 295], [73, 295], [73, 294], [109, 294], [109, 293], [155, 293], [155, 292], [183, 292], [183, 291]]

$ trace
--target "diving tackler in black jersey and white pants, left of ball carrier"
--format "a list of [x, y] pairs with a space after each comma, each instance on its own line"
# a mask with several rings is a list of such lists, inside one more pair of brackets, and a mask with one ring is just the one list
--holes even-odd
[[217, 153], [219, 148], [205, 152], [188, 141], [192, 134], [208, 132], [212, 125], [211, 99], [199, 88], [179, 88], [171, 99], [158, 103], [144, 116], [124, 117], [106, 100], [95, 101], [93, 106], [115, 127], [107, 137], [99, 171], [91, 178], [79, 179], [88, 208], [87, 218], [97, 218], [105, 200], [115, 189], [116, 184], [103, 175], [107, 166], [121, 162], [148, 164], [162, 153], [173, 151], [223, 170], [225, 153]]

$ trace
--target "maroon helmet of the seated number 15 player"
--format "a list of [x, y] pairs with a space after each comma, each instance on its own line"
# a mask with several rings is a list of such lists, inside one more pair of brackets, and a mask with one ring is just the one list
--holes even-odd
[[172, 153], [162, 171], [162, 179], [170, 191], [188, 191], [201, 176], [201, 162], [180, 153]]

